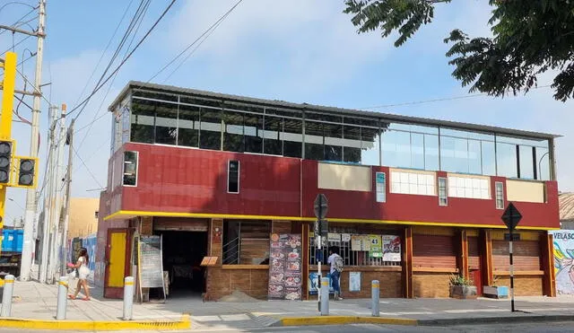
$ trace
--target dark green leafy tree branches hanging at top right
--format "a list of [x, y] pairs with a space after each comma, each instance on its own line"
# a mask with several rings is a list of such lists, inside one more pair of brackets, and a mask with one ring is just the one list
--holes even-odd
[[[450, 0], [346, 0], [344, 13], [352, 14], [358, 32], [393, 31], [400, 47], [422, 25], [432, 22], [437, 5]], [[537, 76], [557, 72], [552, 82], [554, 98], [574, 97], [574, 1], [490, 0], [492, 37], [471, 39], [455, 29], [445, 43], [452, 75], [470, 92], [503, 97], [509, 92], [528, 92]]]

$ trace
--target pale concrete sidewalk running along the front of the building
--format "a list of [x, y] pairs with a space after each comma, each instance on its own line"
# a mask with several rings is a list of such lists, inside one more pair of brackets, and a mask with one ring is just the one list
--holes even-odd
[[[90, 302], [68, 300], [66, 321], [114, 322], [122, 329], [123, 302], [101, 297], [99, 288], [91, 289]], [[27, 320], [56, 321], [57, 286], [35, 282], [14, 285], [12, 317]], [[404, 325], [456, 325], [500, 321], [574, 320], [574, 297], [517, 297], [516, 308], [510, 312], [509, 300], [454, 299], [381, 299], [380, 320], [371, 322]], [[191, 329], [255, 329], [269, 326], [344, 324], [363, 322], [371, 316], [370, 300], [329, 302], [330, 316], [318, 317], [317, 301], [202, 302], [199, 298], [174, 298], [166, 303], [134, 305], [134, 320], [162, 325], [181, 322], [189, 313]], [[187, 328], [189, 323], [187, 323]], [[92, 328], [93, 329], [93, 328]], [[133, 328], [132, 328], [133, 329]], [[153, 329], [150, 327], [148, 329]], [[161, 330], [165, 330], [162, 327]], [[173, 329], [173, 328], [171, 328]], [[183, 329], [178, 326], [178, 329]]]

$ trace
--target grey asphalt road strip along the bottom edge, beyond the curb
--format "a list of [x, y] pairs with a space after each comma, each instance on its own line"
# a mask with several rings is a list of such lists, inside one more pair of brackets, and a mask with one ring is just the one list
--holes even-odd
[[[425, 332], [425, 333], [451, 333], [451, 332], [520, 332], [520, 333], [564, 333], [574, 330], [574, 321], [564, 321], [564, 322], [538, 322], [538, 323], [515, 323], [512, 325], [508, 324], [489, 324], [489, 325], [461, 325], [461, 326], [449, 326], [449, 327], [413, 327], [413, 326], [397, 326], [397, 325], [346, 325], [346, 326], [305, 326], [305, 327], [287, 327], [287, 328], [266, 328], [266, 329], [212, 329], [212, 330], [188, 330], [187, 332], [193, 333], [217, 333], [217, 332], [270, 332], [270, 333], [281, 333], [281, 332], [298, 332], [298, 333], [333, 333], [333, 332], [345, 332], [345, 333], [370, 333], [370, 332]], [[0, 333], [23, 333], [23, 332], [57, 332], [54, 331], [39, 331], [39, 330], [27, 330], [27, 329], [0, 329]], [[59, 331], [63, 333], [62, 331]], [[128, 331], [121, 331], [123, 333], [129, 333]], [[135, 331], [138, 333], [143, 333], [143, 331]], [[134, 332], [134, 333], [135, 333]], [[153, 332], [153, 331], [145, 331]], [[166, 331], [174, 332], [174, 331]], [[182, 331], [176, 331], [182, 332]], [[163, 333], [163, 332], [162, 332]]]

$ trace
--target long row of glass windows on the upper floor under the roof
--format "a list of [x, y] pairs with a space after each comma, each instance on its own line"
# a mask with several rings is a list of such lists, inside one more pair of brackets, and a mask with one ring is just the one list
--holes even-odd
[[[302, 106], [302, 105], [301, 105]], [[126, 142], [262, 153], [525, 180], [552, 180], [552, 139], [401, 123], [192, 94], [130, 89], [111, 109], [112, 153]], [[376, 115], [373, 113], [373, 115]]]

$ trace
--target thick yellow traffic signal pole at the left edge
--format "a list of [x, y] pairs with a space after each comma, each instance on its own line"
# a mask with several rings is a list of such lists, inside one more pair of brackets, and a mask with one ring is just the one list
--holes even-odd
[[[16, 59], [13, 52], [6, 52], [4, 59], [4, 83], [2, 84], [2, 110], [0, 114], [0, 140], [12, 139], [12, 111], [14, 89], [16, 84]], [[4, 207], [6, 203], [6, 186], [0, 186], [0, 230], [4, 228]], [[0, 237], [2, 251], [2, 237]]]

